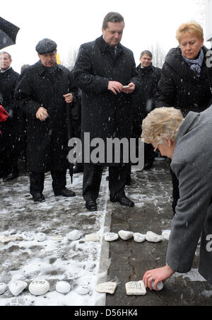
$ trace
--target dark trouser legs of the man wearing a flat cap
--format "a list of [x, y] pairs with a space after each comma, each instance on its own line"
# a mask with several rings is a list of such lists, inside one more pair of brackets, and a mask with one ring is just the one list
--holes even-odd
[[[51, 171], [54, 193], [66, 187], [66, 171]], [[30, 194], [42, 193], [45, 183], [45, 173], [30, 172]]]

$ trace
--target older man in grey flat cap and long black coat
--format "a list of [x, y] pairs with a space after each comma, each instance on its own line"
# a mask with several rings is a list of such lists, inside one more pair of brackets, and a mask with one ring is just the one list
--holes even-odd
[[[73, 197], [66, 189], [68, 138], [66, 110], [73, 105], [74, 89], [69, 69], [57, 64], [57, 44], [37, 43], [39, 62], [23, 70], [16, 98], [27, 118], [27, 168], [35, 202], [45, 200], [45, 172], [51, 171], [54, 195]], [[70, 112], [71, 114], [71, 112]]]

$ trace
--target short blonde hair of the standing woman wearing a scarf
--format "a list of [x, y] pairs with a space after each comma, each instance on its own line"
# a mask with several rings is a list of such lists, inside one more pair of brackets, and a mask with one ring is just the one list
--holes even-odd
[[202, 40], [204, 38], [204, 30], [199, 25], [199, 23], [196, 23], [195, 21], [183, 23], [182, 25], [179, 25], [179, 28], [177, 29], [176, 38], [177, 41], [180, 42], [182, 39], [182, 35], [185, 33], [191, 33], [192, 35], [196, 35], [199, 40]]

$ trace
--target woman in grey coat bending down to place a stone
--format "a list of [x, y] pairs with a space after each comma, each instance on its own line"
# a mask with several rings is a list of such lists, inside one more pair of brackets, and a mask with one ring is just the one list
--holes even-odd
[[175, 272], [188, 273], [201, 236], [199, 273], [212, 285], [212, 106], [186, 118], [175, 108], [157, 108], [143, 120], [142, 137], [172, 159], [179, 200], [172, 220], [166, 265], [148, 270], [146, 287]]

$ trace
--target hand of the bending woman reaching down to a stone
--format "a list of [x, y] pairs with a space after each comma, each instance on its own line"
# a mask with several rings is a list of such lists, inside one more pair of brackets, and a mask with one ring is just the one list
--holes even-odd
[[172, 270], [168, 265], [165, 265], [163, 268], [146, 271], [145, 275], [143, 275], [143, 282], [145, 283], [145, 287], [149, 287], [150, 290], [153, 290], [152, 282], [155, 281], [154, 287], [155, 290], [158, 291], [158, 283], [160, 281], [165, 282], [165, 280], [171, 278], [174, 273], [175, 270]]

